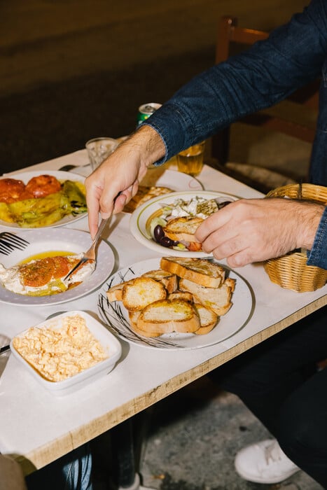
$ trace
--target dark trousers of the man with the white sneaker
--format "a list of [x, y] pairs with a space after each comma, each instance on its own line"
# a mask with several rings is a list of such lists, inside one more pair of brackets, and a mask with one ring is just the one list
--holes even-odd
[[327, 488], [327, 307], [210, 373], [302, 470]]

